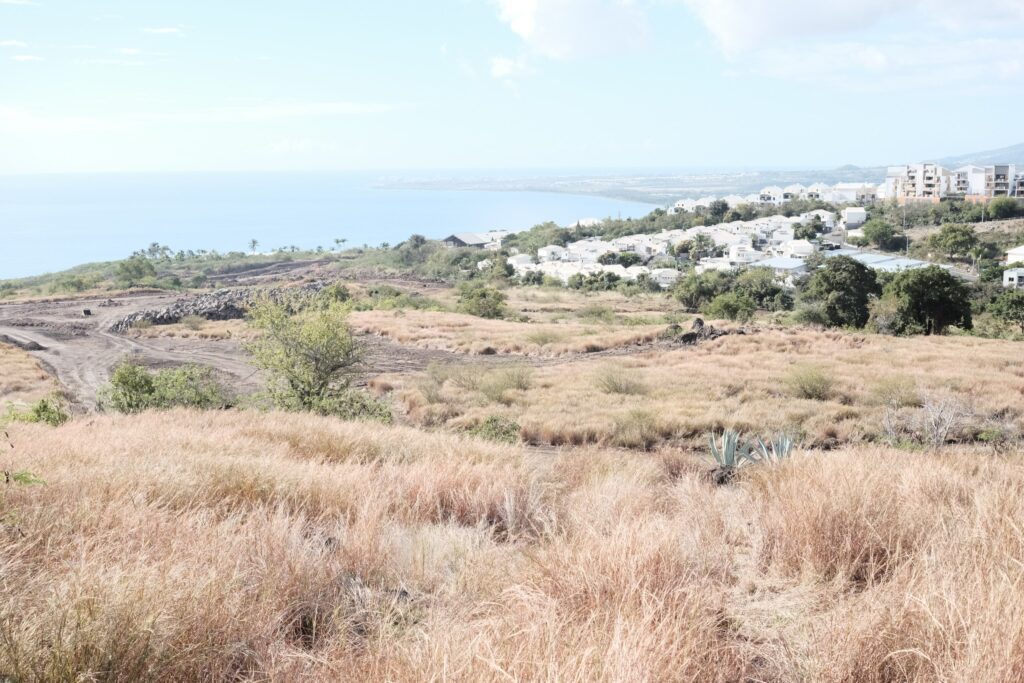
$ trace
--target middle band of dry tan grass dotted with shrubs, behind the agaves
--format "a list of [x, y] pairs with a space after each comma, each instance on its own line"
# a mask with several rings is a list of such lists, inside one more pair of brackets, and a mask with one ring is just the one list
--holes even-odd
[[500, 415], [525, 440], [553, 445], [702, 442], [734, 428], [835, 447], [880, 440], [887, 416], [912, 437], [923, 411], [947, 399], [964, 413], [952, 438], [1024, 429], [1019, 344], [971, 337], [761, 330], [678, 350], [518, 371], [438, 368], [380, 383], [396, 387], [414, 424], [462, 429]]

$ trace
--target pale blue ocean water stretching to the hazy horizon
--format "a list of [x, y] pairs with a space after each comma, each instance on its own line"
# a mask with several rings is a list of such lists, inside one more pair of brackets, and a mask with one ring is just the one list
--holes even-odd
[[395, 244], [414, 232], [639, 217], [647, 204], [524, 191], [390, 189], [351, 173], [0, 176], [0, 280], [174, 250]]

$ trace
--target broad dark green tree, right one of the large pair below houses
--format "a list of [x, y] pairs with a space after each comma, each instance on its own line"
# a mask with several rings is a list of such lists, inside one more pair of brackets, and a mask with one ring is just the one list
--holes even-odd
[[973, 327], [970, 290], [937, 265], [898, 273], [886, 286], [884, 298], [895, 304], [897, 334], [940, 335], [953, 325]]

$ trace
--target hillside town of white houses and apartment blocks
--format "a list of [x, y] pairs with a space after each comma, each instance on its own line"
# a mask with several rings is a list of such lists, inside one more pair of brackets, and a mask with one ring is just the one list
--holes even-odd
[[[890, 167], [884, 182], [814, 183], [786, 187], [768, 186], [760, 193], [740, 197], [703, 197], [681, 200], [669, 209], [673, 215], [711, 216], [716, 205], [721, 209], [741, 210], [781, 207], [791, 202], [811, 202], [836, 207], [836, 211], [815, 209], [797, 215], [776, 215], [751, 220], [730, 220], [694, 225], [686, 229], [668, 229], [656, 233], [627, 234], [604, 240], [590, 237], [562, 245], [550, 244], [536, 255], [509, 249], [508, 264], [515, 275], [530, 273], [568, 285], [573, 278], [609, 273], [625, 282], [646, 279], [662, 289], [669, 289], [681, 275], [680, 265], [691, 265], [695, 272], [737, 270], [749, 267], [770, 268], [776, 280], [793, 288], [796, 279], [809, 270], [808, 259], [849, 256], [883, 272], [900, 272], [933, 265], [930, 261], [900, 254], [880, 254], [862, 249], [867, 245], [863, 226], [872, 206], [894, 203], [897, 206], [938, 204], [962, 201], [985, 206], [998, 198], [1024, 198], [1024, 168], [1015, 165], [966, 166], [949, 170], [936, 164]], [[842, 207], [842, 208], [839, 208]], [[984, 208], [982, 209], [984, 211]], [[578, 227], [592, 227], [600, 221], [580, 221]], [[453, 234], [443, 241], [449, 247], [477, 247], [499, 251], [512, 232], [496, 230], [484, 233]], [[680, 247], [685, 246], [685, 250]], [[1024, 261], [1024, 247], [1007, 254], [1008, 265]], [[629, 256], [623, 256], [629, 255]], [[490, 267], [493, 261], [480, 261], [477, 267]], [[950, 267], [950, 266], [944, 266]], [[1024, 270], [1006, 271], [1006, 287], [1024, 287]]]

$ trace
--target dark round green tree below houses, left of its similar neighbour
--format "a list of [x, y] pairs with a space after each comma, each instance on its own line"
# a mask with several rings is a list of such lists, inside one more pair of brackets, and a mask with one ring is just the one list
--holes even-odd
[[871, 297], [881, 293], [873, 270], [849, 256], [837, 256], [815, 270], [803, 296], [820, 304], [826, 326], [862, 328]]

